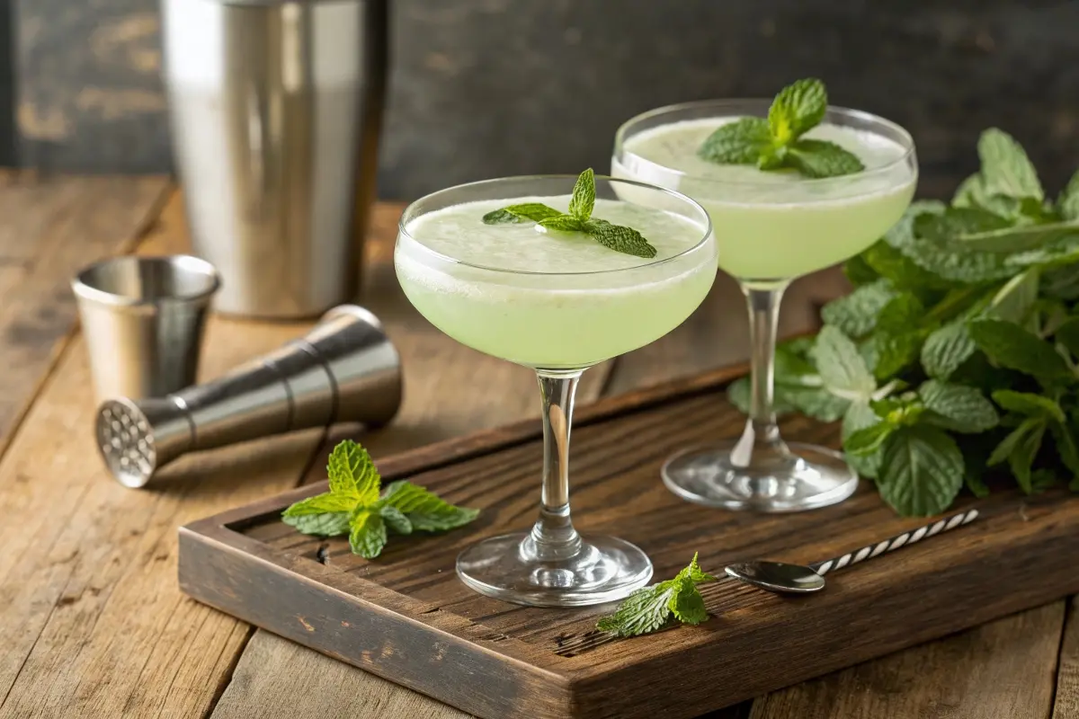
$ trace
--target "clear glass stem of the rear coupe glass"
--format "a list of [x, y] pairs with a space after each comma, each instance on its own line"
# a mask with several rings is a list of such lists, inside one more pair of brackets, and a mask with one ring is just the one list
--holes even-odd
[[775, 391], [773, 368], [776, 361], [776, 327], [779, 303], [788, 282], [766, 287], [742, 286], [749, 305], [750, 340], [750, 404], [749, 420], [741, 439], [732, 452], [730, 459], [737, 467], [749, 467], [754, 454], [786, 454], [787, 445], [779, 437], [776, 412], [773, 406]]

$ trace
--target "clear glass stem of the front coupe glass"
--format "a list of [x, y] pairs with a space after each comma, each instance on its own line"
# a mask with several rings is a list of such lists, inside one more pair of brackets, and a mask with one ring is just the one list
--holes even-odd
[[543, 490], [529, 550], [543, 561], [565, 559], [581, 551], [581, 535], [570, 520], [570, 427], [582, 372], [536, 371], [543, 399]]

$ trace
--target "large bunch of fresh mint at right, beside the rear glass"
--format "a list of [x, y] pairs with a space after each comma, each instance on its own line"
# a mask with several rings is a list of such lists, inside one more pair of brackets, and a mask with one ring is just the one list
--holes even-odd
[[[978, 152], [951, 204], [913, 203], [846, 263], [856, 289], [821, 332], [776, 352], [777, 411], [842, 419], [848, 459], [905, 515], [994, 478], [1079, 492], [1079, 171], [1050, 198], [1008, 134]], [[729, 393], [748, 410], [747, 381]]]

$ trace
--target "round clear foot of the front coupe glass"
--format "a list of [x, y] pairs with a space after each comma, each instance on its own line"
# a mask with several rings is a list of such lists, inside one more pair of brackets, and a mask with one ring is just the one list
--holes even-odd
[[541, 559], [530, 533], [502, 535], [457, 556], [457, 577], [480, 594], [533, 607], [584, 607], [628, 596], [652, 579], [652, 562], [615, 537], [581, 538], [568, 558]]

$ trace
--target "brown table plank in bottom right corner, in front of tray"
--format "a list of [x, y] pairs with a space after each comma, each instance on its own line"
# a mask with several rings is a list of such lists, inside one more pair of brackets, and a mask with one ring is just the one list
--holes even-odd
[[1053, 702], [1064, 604], [768, 694], [750, 719], [1043, 719]]

